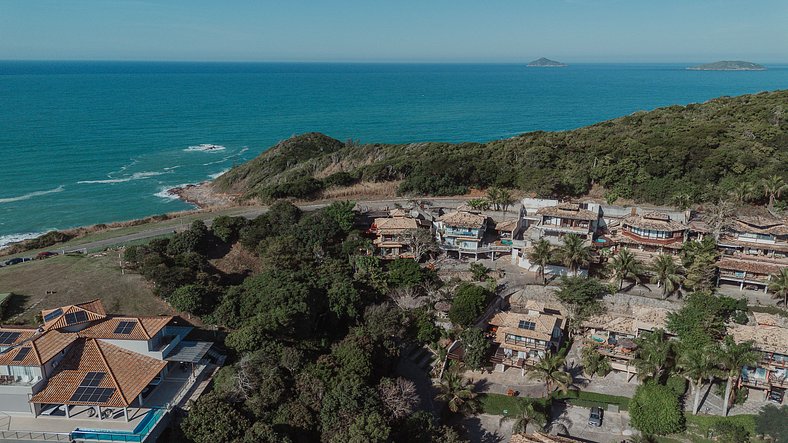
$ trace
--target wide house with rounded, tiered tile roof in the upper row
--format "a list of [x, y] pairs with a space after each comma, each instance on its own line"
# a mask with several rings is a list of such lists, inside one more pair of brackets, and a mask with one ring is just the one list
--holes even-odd
[[681, 251], [687, 238], [687, 225], [664, 212], [638, 215], [635, 208], [632, 212], [620, 221], [620, 227], [611, 229], [611, 239], [617, 248], [627, 247], [648, 258], [658, 254], [676, 255]]

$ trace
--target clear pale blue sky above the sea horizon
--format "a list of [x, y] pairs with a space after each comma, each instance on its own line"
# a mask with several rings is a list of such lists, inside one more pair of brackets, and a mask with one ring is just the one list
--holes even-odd
[[0, 59], [788, 62], [788, 0], [0, 0]]

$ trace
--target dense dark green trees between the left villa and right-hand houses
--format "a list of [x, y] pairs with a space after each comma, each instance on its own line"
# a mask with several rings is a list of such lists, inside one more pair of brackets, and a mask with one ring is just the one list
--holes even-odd
[[[406, 344], [441, 334], [426, 310], [404, 309], [387, 295], [441, 282], [414, 260], [384, 265], [367, 255], [371, 244], [354, 229], [353, 206], [302, 213], [280, 202], [254, 220], [219, 217], [211, 228], [196, 221], [172, 238], [126, 249], [125, 260], [173, 307], [229, 331], [229, 364], [189, 411], [182, 438], [462, 441], [421, 410], [413, 382], [395, 371]], [[251, 256], [254, 269], [220, 271], [217, 260], [231, 251]]]

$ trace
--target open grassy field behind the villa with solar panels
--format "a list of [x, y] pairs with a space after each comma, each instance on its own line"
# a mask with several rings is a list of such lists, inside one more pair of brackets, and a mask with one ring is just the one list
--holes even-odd
[[36, 324], [42, 309], [95, 298], [111, 313], [174, 313], [142, 276], [121, 274], [117, 254], [57, 256], [0, 268], [0, 293], [5, 292], [14, 296], [0, 319], [3, 323]]

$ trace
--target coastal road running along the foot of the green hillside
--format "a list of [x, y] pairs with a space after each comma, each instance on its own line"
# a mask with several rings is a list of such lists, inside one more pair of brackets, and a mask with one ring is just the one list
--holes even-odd
[[[400, 199], [386, 199], [386, 200], [367, 200], [367, 201], [358, 201], [357, 205], [360, 208], [366, 209], [366, 210], [373, 210], [373, 209], [374, 210], [379, 210], [379, 209], [386, 209], [386, 208], [394, 208], [395, 205], [397, 205], [397, 204], [406, 204], [409, 201], [411, 201], [411, 200], [410, 199], [404, 199], [404, 198], [400, 198]], [[424, 199], [424, 201], [431, 203], [432, 206], [434, 206], [434, 207], [453, 208], [453, 207], [457, 207], [457, 206], [461, 205], [462, 203], [467, 201], [467, 199], [457, 198], [457, 197], [451, 197], [451, 198], [429, 198], [429, 199]], [[330, 205], [331, 203], [332, 202], [320, 202], [320, 203], [314, 203], [314, 204], [308, 204], [308, 205], [299, 205], [298, 207], [301, 208], [302, 211], [315, 211], [315, 210], [324, 208], [324, 207]], [[268, 208], [267, 207], [253, 206], [253, 207], [249, 207], [246, 210], [241, 210], [240, 212], [238, 212], [235, 215], [236, 216], [241, 216], [241, 217], [246, 217], [248, 219], [253, 219], [253, 218], [256, 218], [256, 217], [258, 217], [261, 214], [264, 214], [266, 212], [268, 212]], [[211, 223], [214, 220], [214, 218], [216, 218], [216, 215], [214, 215], [213, 213], [210, 213], [210, 212], [205, 212], [204, 215], [205, 215], [205, 217], [200, 217], [200, 219], [203, 220], [205, 222], [205, 224], [210, 227]], [[198, 216], [199, 216], [199, 213], [198, 213]], [[177, 218], [168, 220], [168, 222], [172, 222], [173, 220], [177, 220]], [[87, 250], [105, 249], [105, 248], [108, 248], [110, 246], [116, 246], [116, 245], [120, 245], [120, 244], [124, 244], [124, 243], [129, 243], [129, 242], [134, 242], [134, 241], [139, 241], [139, 240], [145, 240], [145, 239], [148, 239], [148, 238], [161, 237], [161, 236], [164, 236], [164, 235], [167, 235], [167, 234], [172, 234], [172, 233], [175, 233], [175, 232], [185, 231], [186, 229], [189, 228], [190, 224], [191, 224], [191, 222], [187, 223], [187, 222], [184, 221], [181, 224], [169, 225], [169, 226], [166, 226], [166, 227], [156, 227], [154, 225], [154, 226], [151, 226], [150, 229], [146, 229], [146, 230], [140, 231], [140, 232], [135, 232], [133, 234], [119, 235], [117, 237], [111, 237], [111, 238], [106, 238], [106, 239], [102, 239], [102, 240], [96, 240], [96, 241], [92, 241], [92, 242], [81, 243], [81, 244], [73, 245], [73, 246], [66, 247], [66, 248], [62, 248], [62, 247], [58, 248], [57, 246], [52, 246], [51, 249], [53, 251], [60, 250], [60, 251], [65, 251], [65, 252], [77, 252], [77, 251], [82, 251], [82, 250], [85, 250], [85, 249], [87, 249]]]

